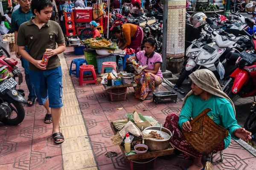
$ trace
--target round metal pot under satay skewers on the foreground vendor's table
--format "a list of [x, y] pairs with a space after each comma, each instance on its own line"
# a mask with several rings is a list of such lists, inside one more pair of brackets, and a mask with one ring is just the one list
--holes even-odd
[[[151, 126], [151, 127], [145, 128], [144, 130], [160, 130], [160, 126]], [[170, 146], [169, 141], [172, 137], [172, 133], [170, 130], [166, 129], [165, 127], [162, 127], [161, 131], [168, 133], [170, 135], [170, 138], [163, 139], [163, 140], [157, 140], [157, 139], [144, 140], [144, 144], [148, 146], [148, 150], [156, 151], [156, 150], [165, 150], [169, 148]]]

